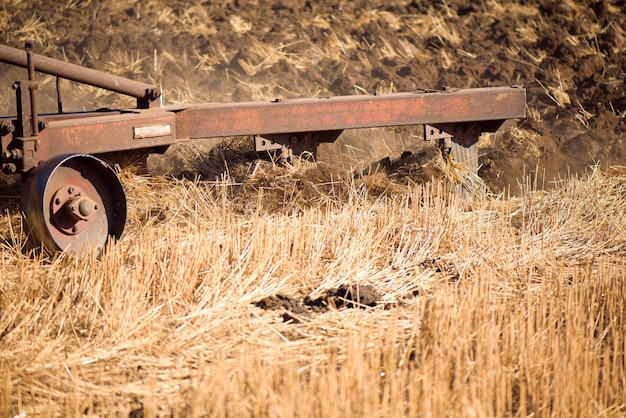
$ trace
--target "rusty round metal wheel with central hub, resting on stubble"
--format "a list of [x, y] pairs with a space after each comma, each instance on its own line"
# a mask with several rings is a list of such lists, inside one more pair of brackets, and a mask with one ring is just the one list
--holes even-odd
[[119, 239], [126, 194], [109, 165], [91, 155], [61, 155], [29, 173], [22, 211], [30, 240], [51, 252], [83, 256]]

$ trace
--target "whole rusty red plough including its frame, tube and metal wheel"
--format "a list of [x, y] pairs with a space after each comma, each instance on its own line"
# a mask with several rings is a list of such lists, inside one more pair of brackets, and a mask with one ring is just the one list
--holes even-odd
[[[31, 42], [24, 50], [0, 45], [0, 61], [28, 69], [28, 78], [13, 84], [17, 114], [0, 117], [2, 170], [24, 177], [21, 207], [30, 239], [79, 256], [121, 237], [126, 197], [109, 163], [131, 153], [253, 136], [257, 151], [315, 156], [320, 143], [346, 129], [424, 125], [424, 139], [439, 141], [449, 159], [477, 170], [480, 134], [526, 113], [526, 91], [518, 86], [163, 106], [155, 85], [36, 55]], [[134, 97], [137, 106], [64, 112], [57, 82], [58, 112], [38, 113], [36, 71]]]

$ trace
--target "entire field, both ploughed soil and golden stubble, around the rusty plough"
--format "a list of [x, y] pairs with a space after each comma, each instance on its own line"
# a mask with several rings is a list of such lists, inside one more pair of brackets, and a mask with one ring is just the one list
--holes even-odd
[[[350, 133], [319, 163], [248, 138], [172, 150], [121, 173], [128, 225], [98, 258], [27, 251], [3, 178], [1, 416], [626, 415], [622, 3], [11, 0], [0, 17], [3, 43], [169, 103], [529, 92], [526, 120], [481, 138], [473, 193], [413, 128]], [[2, 114], [24, 77], [0, 65]], [[133, 106], [64, 88], [67, 110]]]

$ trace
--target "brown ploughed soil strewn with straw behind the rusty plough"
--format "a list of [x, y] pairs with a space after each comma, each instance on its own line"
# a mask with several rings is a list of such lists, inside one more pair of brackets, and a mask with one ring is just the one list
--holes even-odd
[[[528, 118], [481, 142], [492, 189], [515, 189], [536, 170], [549, 182], [596, 163], [626, 164], [621, 1], [34, 0], [1, 5], [0, 18], [4, 43], [32, 38], [40, 53], [156, 82], [166, 102], [523, 85]], [[23, 70], [0, 70], [11, 112], [8, 86]], [[52, 107], [53, 83], [43, 84]], [[75, 110], [120, 103], [68, 89]], [[422, 152], [411, 129], [343, 141], [385, 136]]]

